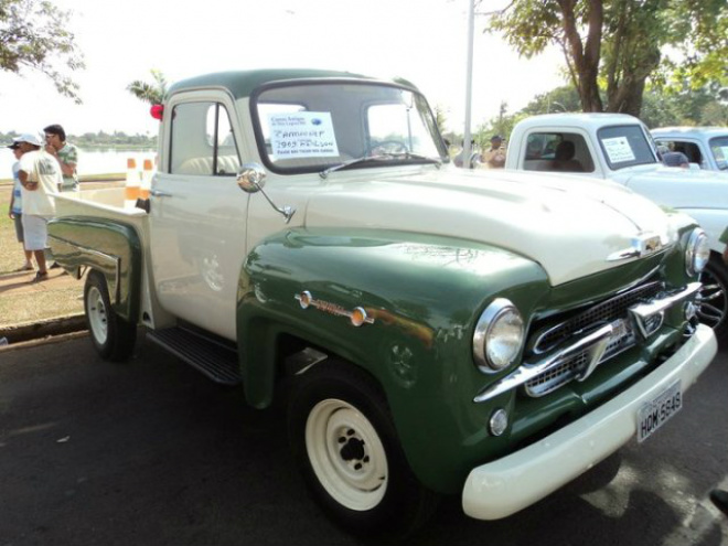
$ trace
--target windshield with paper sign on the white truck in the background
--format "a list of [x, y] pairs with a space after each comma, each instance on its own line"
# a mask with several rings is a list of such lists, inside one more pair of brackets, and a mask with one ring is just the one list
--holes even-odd
[[597, 136], [607, 163], [613, 171], [657, 163], [653, 146], [639, 125], [603, 127]]

